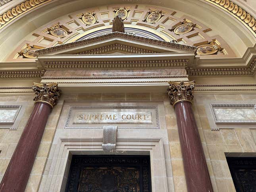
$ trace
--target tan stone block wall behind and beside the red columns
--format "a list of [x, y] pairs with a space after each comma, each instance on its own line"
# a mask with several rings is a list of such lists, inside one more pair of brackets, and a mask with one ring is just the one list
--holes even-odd
[[[2, 179], [8, 166], [10, 158], [15, 150], [19, 137], [33, 109], [33, 98], [29, 96], [0, 96], [1, 102], [27, 102], [28, 106], [19, 123], [17, 130], [0, 129], [0, 177]], [[173, 106], [169, 104], [166, 93], [92, 93], [92, 94], [62, 94], [58, 104], [52, 110], [44, 135], [37, 153], [37, 157], [27, 185], [27, 192], [38, 191], [46, 184], [48, 171], [52, 163], [53, 154], [49, 154], [51, 149], [56, 147], [53, 143], [56, 127], [60, 119], [63, 102], [65, 101], [120, 101], [120, 102], [163, 102], [165, 106], [166, 127], [169, 140], [169, 151], [171, 156], [171, 177], [168, 178], [169, 191], [186, 192], [185, 173], [181, 147], [177, 130], [176, 116]], [[225, 153], [232, 152], [253, 152], [256, 153], [256, 127], [252, 124], [252, 129], [235, 128], [220, 129], [212, 131], [208, 122], [208, 116], [204, 106], [204, 101], [248, 101], [256, 103], [256, 94], [194, 94], [193, 109], [198, 125], [198, 131], [202, 140], [204, 154], [206, 157], [208, 170], [214, 187], [214, 192], [235, 192], [233, 180], [229, 172], [229, 167], [225, 158]], [[74, 130], [70, 132], [77, 135]], [[54, 151], [54, 150], [53, 150]]]

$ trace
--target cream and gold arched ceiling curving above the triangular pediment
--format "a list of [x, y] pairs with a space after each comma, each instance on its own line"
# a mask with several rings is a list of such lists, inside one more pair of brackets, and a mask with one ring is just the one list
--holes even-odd
[[[15, 22], [7, 23], [6, 27], [2, 26], [0, 31], [2, 61], [12, 61], [13, 58], [18, 58], [17, 53], [27, 45], [45, 48], [72, 42], [96, 31], [107, 30], [111, 28], [114, 9], [120, 7], [129, 8], [129, 15], [124, 22], [125, 27], [130, 29], [149, 31], [166, 41], [174, 39], [179, 43], [195, 46], [216, 39], [224, 51], [222, 55], [214, 55], [215, 58], [242, 57], [246, 49], [255, 44], [255, 33], [252, 27], [249, 29], [250, 27], [246, 26], [241, 18], [239, 20], [228, 13], [225, 8], [227, 5], [224, 4], [221, 8], [218, 0], [162, 0], [158, 2], [129, 0], [122, 1], [123, 4], [117, 0], [110, 0], [107, 5], [106, 1], [100, 0], [34, 0], [34, 2], [35, 6], [31, 8], [31, 11], [23, 8], [25, 12], [20, 13], [21, 16], [17, 17]], [[10, 4], [9, 7], [15, 5], [14, 2], [8, 4]], [[8, 10], [8, 4], [2, 7]], [[155, 23], [143, 21], [150, 10], [160, 10], [163, 16]], [[77, 16], [86, 12], [95, 14], [96, 22], [92, 25], [83, 23]], [[252, 13], [251, 20], [253, 16]], [[184, 21], [185, 24], [186, 22], [194, 24], [192, 31], [181, 35], [175, 34], [173, 28]], [[47, 34], [49, 31], [46, 29], [56, 23], [60, 23], [71, 33], [64, 38]], [[7, 49], [10, 51], [6, 52]]]

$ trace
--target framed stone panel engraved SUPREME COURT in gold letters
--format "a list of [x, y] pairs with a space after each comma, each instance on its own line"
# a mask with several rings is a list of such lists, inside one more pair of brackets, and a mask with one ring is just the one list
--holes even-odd
[[70, 106], [64, 128], [159, 128], [158, 105]]

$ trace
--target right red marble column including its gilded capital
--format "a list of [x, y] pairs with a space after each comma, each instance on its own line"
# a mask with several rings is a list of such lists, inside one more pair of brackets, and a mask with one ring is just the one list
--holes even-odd
[[204, 150], [194, 118], [191, 100], [194, 82], [169, 82], [171, 104], [175, 107], [181, 153], [188, 192], [213, 192]]

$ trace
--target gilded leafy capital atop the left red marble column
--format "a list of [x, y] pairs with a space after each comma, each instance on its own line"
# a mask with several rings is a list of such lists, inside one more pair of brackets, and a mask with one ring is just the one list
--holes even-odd
[[58, 83], [33, 83], [33, 91], [35, 92], [35, 102], [44, 102], [52, 108], [60, 97], [61, 90], [58, 89]]

